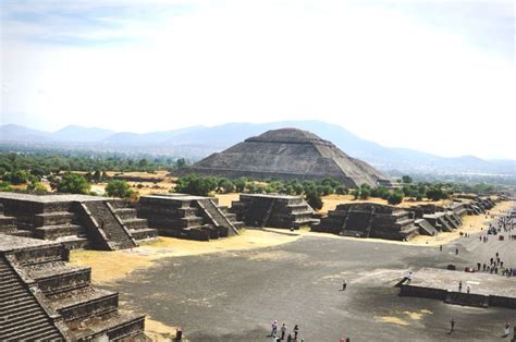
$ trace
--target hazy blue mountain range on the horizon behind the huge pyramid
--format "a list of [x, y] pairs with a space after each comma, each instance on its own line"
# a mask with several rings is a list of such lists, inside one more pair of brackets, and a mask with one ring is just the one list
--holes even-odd
[[250, 136], [280, 127], [310, 131], [332, 142], [349, 156], [363, 159], [384, 171], [516, 175], [516, 160], [484, 160], [474, 156], [449, 158], [409, 148], [384, 147], [363, 139], [340, 125], [321, 121], [238, 122], [212, 127], [197, 125], [145, 134], [78, 125], [69, 125], [56, 132], [45, 132], [15, 124], [4, 124], [0, 126], [0, 144], [67, 149], [87, 148], [130, 154], [146, 152], [197, 160]]

